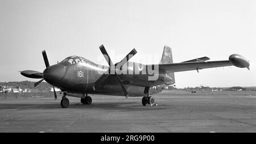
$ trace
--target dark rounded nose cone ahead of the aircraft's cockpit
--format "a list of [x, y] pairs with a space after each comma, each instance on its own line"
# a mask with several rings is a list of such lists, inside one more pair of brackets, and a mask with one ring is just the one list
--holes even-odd
[[59, 82], [61, 79], [63, 79], [64, 75], [65, 67], [60, 63], [49, 66], [43, 71], [43, 78], [49, 84], [55, 84]]

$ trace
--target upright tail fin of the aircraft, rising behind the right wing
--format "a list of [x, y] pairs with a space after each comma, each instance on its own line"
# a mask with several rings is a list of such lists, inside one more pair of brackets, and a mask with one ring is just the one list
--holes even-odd
[[[165, 64], [165, 63], [173, 63], [172, 49], [167, 45], [164, 46], [163, 55], [160, 61], [160, 64]], [[168, 73], [167, 75], [172, 78], [172, 82], [170, 82], [170, 84], [174, 84], [175, 83], [174, 73]]]

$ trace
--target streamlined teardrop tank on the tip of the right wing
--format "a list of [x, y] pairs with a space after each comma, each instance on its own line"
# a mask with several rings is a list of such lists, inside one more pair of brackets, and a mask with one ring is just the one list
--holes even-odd
[[249, 61], [246, 60], [245, 57], [241, 56], [240, 54], [232, 54], [229, 56], [229, 61], [232, 63], [234, 66], [237, 67], [246, 67], [247, 69], [250, 70], [250, 63]]

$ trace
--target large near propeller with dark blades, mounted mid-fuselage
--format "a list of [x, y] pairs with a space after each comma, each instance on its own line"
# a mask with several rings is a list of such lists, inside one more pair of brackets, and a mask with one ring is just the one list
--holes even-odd
[[[113, 65], [113, 62], [111, 61], [108, 52], [106, 52], [106, 49], [105, 49], [104, 45], [100, 46], [100, 50], [101, 50], [101, 53], [103, 54], [105, 60], [108, 62], [109, 66], [110, 66], [110, 70], [112, 70], [113, 68], [115, 70], [116, 65]], [[135, 49], [131, 50], [131, 52], [129, 54], [127, 54], [126, 57], [123, 58], [122, 61], [119, 62], [119, 63], [121, 63], [121, 67], [123, 65], [125, 65], [125, 63], [127, 63], [127, 61], [129, 61], [130, 58], [133, 57], [136, 53], [137, 53], [137, 51]], [[118, 81], [119, 81], [119, 83], [122, 87], [123, 94], [125, 94], [125, 98], [128, 98], [129, 94], [128, 94], [125, 86], [123, 86], [123, 83], [122, 83], [121, 79], [119, 78], [119, 75], [116, 73], [116, 71], [115, 71], [115, 77], [118, 79]]]

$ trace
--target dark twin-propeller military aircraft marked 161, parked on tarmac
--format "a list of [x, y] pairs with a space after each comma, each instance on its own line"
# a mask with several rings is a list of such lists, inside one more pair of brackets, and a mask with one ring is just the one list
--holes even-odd
[[[60, 88], [63, 98], [61, 107], [67, 108], [69, 100], [66, 96], [81, 98], [81, 103], [91, 104], [92, 98], [88, 94], [102, 95], [125, 95], [143, 96], [142, 105], [154, 104], [152, 96], [163, 90], [164, 87], [175, 83], [174, 73], [179, 71], [207, 69], [211, 67], [237, 66], [247, 67], [250, 63], [239, 54], [232, 54], [226, 61], [208, 61], [208, 57], [196, 58], [194, 60], [173, 63], [171, 48], [164, 46], [163, 55], [159, 64], [143, 65], [142, 63], [128, 62], [134, 54], [135, 49], [122, 61], [113, 64], [104, 45], [100, 50], [109, 66], [97, 65], [83, 57], [70, 56], [56, 65], [49, 65], [46, 51], [42, 52], [46, 69], [43, 73], [34, 70], [21, 71], [24, 77], [38, 78], [53, 86], [55, 99], [57, 95], [55, 88]], [[152, 70], [157, 73], [151, 73]], [[156, 76], [156, 79], [150, 79]]]

